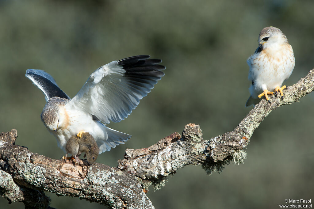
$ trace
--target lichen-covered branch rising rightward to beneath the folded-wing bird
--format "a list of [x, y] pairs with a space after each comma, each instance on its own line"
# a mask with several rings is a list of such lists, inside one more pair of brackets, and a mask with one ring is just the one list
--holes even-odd
[[189, 164], [202, 165], [211, 174], [215, 170], [220, 171], [230, 160], [241, 163], [246, 158], [243, 149], [264, 118], [272, 110], [281, 105], [292, 104], [313, 90], [314, 69], [298, 83], [284, 90], [283, 101], [271, 96], [272, 103], [269, 104], [262, 99], [233, 131], [204, 140], [200, 127], [188, 124], [182, 136], [173, 133], [149, 148], [127, 149], [124, 159], [119, 161], [118, 168], [142, 180], [158, 182]]

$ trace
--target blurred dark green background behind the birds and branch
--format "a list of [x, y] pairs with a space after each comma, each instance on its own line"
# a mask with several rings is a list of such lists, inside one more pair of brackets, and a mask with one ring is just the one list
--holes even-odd
[[[50, 158], [64, 153], [40, 120], [44, 95], [24, 77], [44, 69], [70, 97], [90, 73], [113, 60], [149, 54], [163, 60], [163, 77], [136, 110], [109, 127], [132, 139], [101, 154], [116, 166], [126, 148], [148, 147], [188, 123], [205, 139], [233, 130], [251, 110], [246, 59], [259, 32], [280, 28], [295, 52], [291, 85], [314, 67], [314, 1], [9, 1], [0, 0], [0, 132], [18, 131], [17, 144]], [[285, 199], [313, 199], [313, 94], [274, 110], [254, 132], [241, 165], [206, 175], [187, 166], [158, 191], [158, 208], [278, 208]], [[56, 208], [104, 208], [71, 197]], [[22, 203], [1, 208], [24, 208]]]

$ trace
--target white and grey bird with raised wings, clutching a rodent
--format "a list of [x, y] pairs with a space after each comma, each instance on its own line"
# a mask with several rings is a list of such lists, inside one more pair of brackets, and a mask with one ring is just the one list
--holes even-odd
[[164, 76], [160, 59], [149, 55], [128, 57], [110, 62], [93, 72], [79, 92], [70, 99], [50, 74], [28, 69], [29, 78], [46, 95], [41, 120], [57, 138], [64, 151], [72, 135], [89, 132], [99, 153], [124, 144], [131, 135], [113, 130], [103, 123], [120, 122], [137, 107], [154, 84]]

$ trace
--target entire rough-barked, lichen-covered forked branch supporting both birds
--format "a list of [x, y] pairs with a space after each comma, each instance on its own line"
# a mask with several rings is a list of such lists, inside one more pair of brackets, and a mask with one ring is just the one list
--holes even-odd
[[[94, 163], [91, 166], [64, 163], [15, 145], [16, 131], [0, 135], [0, 194], [25, 206], [39, 202], [47, 208], [42, 192], [79, 197], [112, 208], [154, 208], [145, 195], [149, 185], [159, 189], [165, 178], [185, 165], [201, 165], [208, 174], [221, 171], [233, 160], [241, 163], [253, 131], [281, 105], [289, 105], [314, 90], [314, 69], [284, 90], [284, 99], [270, 96], [253, 108], [240, 124], [221, 136], [204, 140], [199, 125], [188, 124], [182, 136], [173, 133], [143, 149], [127, 149], [117, 168]], [[32, 197], [25, 196], [31, 194]], [[37, 198], [32, 201], [33, 198]], [[27, 199], [27, 201], [26, 201]]]

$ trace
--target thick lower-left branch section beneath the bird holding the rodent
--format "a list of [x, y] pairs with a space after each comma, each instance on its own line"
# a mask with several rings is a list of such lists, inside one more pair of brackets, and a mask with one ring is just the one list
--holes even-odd
[[[7, 135], [12, 133], [14, 130]], [[26, 188], [41, 196], [45, 190], [112, 208], [153, 208], [140, 183], [127, 172], [99, 163], [88, 167], [65, 163], [0, 140], [0, 190], [9, 201], [22, 201], [27, 206], [25, 200], [29, 198], [23, 196]], [[37, 202], [41, 196], [37, 194]]]

